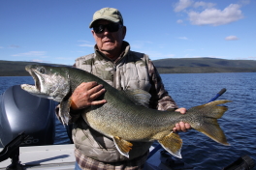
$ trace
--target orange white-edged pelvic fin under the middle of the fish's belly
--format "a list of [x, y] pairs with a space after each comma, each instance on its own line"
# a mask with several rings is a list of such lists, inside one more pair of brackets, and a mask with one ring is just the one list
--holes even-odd
[[119, 153], [129, 157], [129, 152], [131, 151], [133, 144], [118, 136], [112, 137], [112, 140]]

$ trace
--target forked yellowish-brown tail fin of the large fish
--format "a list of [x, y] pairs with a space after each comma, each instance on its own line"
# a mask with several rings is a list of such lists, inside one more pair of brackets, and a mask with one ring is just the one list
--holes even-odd
[[190, 123], [192, 128], [206, 134], [212, 140], [221, 143], [223, 145], [229, 145], [223, 130], [219, 127], [217, 119], [221, 118], [222, 115], [228, 110], [226, 106], [217, 106], [231, 102], [230, 100], [216, 100], [208, 102], [204, 105], [192, 107], [188, 110], [194, 113], [200, 114], [201, 119], [198, 122]]

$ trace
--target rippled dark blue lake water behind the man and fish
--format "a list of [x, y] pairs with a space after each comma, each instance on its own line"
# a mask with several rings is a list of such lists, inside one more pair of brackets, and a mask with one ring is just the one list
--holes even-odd
[[[179, 107], [204, 104], [222, 88], [219, 99], [230, 99], [229, 110], [218, 121], [231, 146], [222, 146], [196, 130], [180, 132], [182, 160], [195, 169], [222, 169], [240, 156], [256, 159], [256, 72], [161, 74], [165, 87]], [[31, 77], [0, 77], [0, 94], [8, 87], [33, 83]], [[63, 126], [56, 121], [56, 144], [69, 142]], [[254, 168], [256, 169], [256, 168]]]

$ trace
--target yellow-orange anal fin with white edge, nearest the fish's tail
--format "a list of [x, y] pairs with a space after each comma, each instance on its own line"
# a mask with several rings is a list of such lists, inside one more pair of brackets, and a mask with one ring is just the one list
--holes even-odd
[[178, 134], [172, 131], [161, 140], [158, 140], [158, 142], [171, 155], [182, 158], [182, 156], [180, 155], [180, 151], [182, 148], [182, 139], [179, 137]]

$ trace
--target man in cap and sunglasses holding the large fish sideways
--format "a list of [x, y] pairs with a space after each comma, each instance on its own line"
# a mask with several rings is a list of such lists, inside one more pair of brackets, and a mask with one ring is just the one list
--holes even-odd
[[[164, 89], [161, 77], [148, 56], [130, 50], [124, 42], [126, 27], [122, 15], [116, 9], [104, 8], [93, 15], [89, 25], [93, 28], [95, 53], [82, 56], [74, 65], [89, 71], [118, 90], [143, 89], [151, 95], [149, 107], [158, 110], [177, 108], [176, 102]], [[122, 156], [112, 139], [88, 127], [80, 117], [80, 110], [91, 105], [104, 104], [105, 99], [95, 100], [105, 93], [96, 82], [81, 83], [71, 97], [71, 120], [75, 156], [81, 169], [142, 169], [150, 142], [132, 142], [130, 157]], [[176, 111], [185, 113], [185, 108]], [[174, 131], [186, 131], [190, 125], [179, 123]]]

